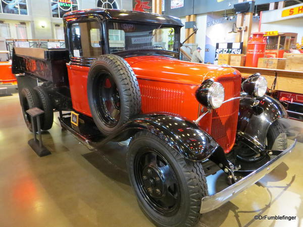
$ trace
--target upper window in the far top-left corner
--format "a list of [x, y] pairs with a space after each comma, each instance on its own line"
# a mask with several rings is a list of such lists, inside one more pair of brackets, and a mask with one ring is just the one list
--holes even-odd
[[1, 0], [1, 13], [27, 15], [26, 0]]

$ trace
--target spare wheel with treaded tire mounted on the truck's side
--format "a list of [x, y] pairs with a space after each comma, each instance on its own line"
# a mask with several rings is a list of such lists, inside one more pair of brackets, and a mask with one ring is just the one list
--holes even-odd
[[94, 123], [106, 136], [141, 111], [141, 95], [135, 74], [120, 56], [104, 54], [92, 63], [87, 97]]

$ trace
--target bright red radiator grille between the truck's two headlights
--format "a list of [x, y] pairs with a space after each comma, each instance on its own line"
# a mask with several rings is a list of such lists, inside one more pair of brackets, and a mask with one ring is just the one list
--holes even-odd
[[[225, 100], [240, 95], [240, 76], [219, 78], [218, 82], [225, 88]], [[211, 135], [225, 152], [229, 152], [235, 142], [238, 110], [239, 99], [236, 99], [213, 111]]]

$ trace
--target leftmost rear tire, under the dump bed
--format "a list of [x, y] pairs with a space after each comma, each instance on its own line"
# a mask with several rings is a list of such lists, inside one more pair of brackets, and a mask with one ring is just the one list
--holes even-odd
[[[29, 131], [33, 131], [32, 122], [30, 115], [26, 112], [26, 110], [34, 108], [34, 107], [41, 107], [40, 101], [36, 92], [29, 87], [25, 87], [20, 92], [20, 104], [23, 112], [23, 117], [25, 124]], [[37, 123], [34, 121], [34, 128], [35, 132], [37, 131]]]

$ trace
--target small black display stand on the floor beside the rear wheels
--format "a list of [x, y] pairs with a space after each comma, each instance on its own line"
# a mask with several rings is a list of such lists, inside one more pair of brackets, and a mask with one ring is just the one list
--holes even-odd
[[[34, 138], [28, 141], [28, 144], [30, 147], [36, 152], [36, 154], [39, 157], [43, 157], [46, 155], [51, 154], [49, 150], [47, 150], [46, 147], [43, 146], [42, 144], [42, 134], [41, 134], [41, 124], [40, 124], [40, 115], [44, 113], [42, 109], [39, 109], [37, 107], [31, 108], [26, 110], [26, 112], [30, 115], [31, 117], [31, 123], [32, 123], [32, 129], [33, 129], [33, 136]], [[35, 124], [34, 120], [37, 122], [37, 128], [38, 128], [38, 135], [39, 135], [39, 140], [37, 140], [36, 137], [36, 130], [35, 130]]]

